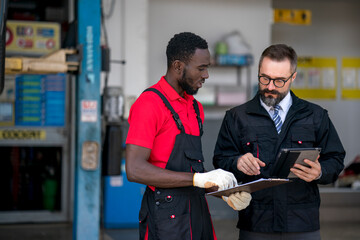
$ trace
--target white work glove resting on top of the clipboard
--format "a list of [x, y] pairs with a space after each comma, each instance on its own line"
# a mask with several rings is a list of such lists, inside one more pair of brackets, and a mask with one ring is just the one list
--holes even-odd
[[218, 191], [237, 185], [236, 178], [231, 172], [216, 169], [206, 173], [195, 173], [193, 186], [200, 188], [219, 187]]

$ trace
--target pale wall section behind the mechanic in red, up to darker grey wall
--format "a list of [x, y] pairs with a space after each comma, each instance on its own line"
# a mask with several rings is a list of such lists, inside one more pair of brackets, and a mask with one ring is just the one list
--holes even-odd
[[[109, 86], [123, 87], [127, 111], [134, 98], [166, 73], [166, 46], [176, 33], [191, 31], [202, 36], [213, 52], [223, 35], [239, 31], [250, 44], [255, 63], [271, 41], [271, 0], [104, 0], [103, 7], [108, 16], [105, 23], [111, 59], [115, 60], [111, 63]], [[122, 59], [125, 65], [116, 63]], [[256, 73], [254, 64], [251, 76]], [[236, 68], [212, 68], [205, 86], [211, 82], [236, 82], [236, 77]], [[255, 77], [251, 80], [256, 84]], [[219, 125], [224, 113], [220, 109], [211, 121]], [[216, 136], [217, 131], [209, 128], [208, 134]], [[212, 168], [213, 141], [204, 145], [208, 169]]]

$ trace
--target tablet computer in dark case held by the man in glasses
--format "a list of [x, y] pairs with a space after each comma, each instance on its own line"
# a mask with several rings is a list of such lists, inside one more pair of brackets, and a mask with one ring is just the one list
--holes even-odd
[[321, 148], [283, 148], [278, 154], [272, 175], [281, 178], [297, 178], [290, 168], [295, 163], [308, 166], [304, 159], [315, 161], [320, 152]]

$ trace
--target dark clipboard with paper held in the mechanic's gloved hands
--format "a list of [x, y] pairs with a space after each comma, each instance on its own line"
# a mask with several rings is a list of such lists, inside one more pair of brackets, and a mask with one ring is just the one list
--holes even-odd
[[282, 179], [282, 178], [260, 178], [252, 182], [240, 184], [236, 187], [224, 189], [221, 191], [210, 192], [207, 193], [206, 195], [220, 197], [220, 198], [222, 196], [228, 197], [232, 193], [243, 192], [243, 191], [252, 193], [264, 188], [274, 187], [289, 182], [290, 182], [289, 179]]

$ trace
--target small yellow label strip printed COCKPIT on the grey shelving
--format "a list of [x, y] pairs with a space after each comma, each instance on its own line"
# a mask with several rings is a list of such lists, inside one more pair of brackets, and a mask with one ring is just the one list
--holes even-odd
[[45, 130], [0, 130], [0, 140], [45, 140]]

